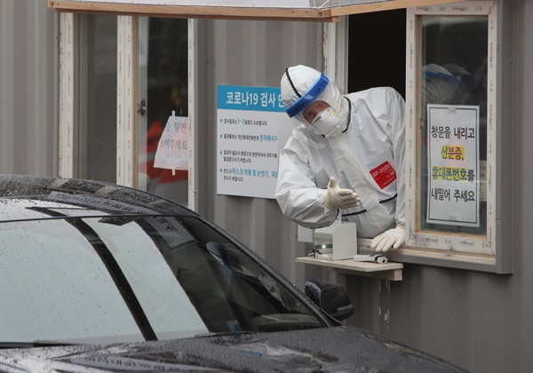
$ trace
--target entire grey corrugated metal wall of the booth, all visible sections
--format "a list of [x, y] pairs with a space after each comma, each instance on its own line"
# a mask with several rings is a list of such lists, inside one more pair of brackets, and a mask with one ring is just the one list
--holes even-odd
[[[17, 4], [15, 6], [15, 3]], [[513, 274], [405, 265], [402, 282], [346, 275], [356, 313], [348, 323], [433, 353], [475, 372], [533, 371], [533, 2], [500, 1], [505, 14], [503, 82], [511, 137], [505, 157]], [[58, 164], [58, 16], [45, 1], [0, 0], [0, 172], [56, 175]], [[201, 20], [196, 61], [198, 210], [256, 250], [303, 288], [327, 278], [296, 264], [309, 245], [274, 200], [216, 190], [216, 89], [219, 84], [279, 85], [285, 67], [322, 67], [322, 25], [308, 22]]]

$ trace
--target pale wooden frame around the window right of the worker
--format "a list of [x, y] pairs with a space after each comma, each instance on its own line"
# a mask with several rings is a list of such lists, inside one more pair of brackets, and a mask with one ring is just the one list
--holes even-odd
[[[484, 238], [434, 234], [418, 229], [418, 76], [420, 66], [418, 44], [418, 20], [424, 15], [465, 16], [484, 15], [488, 18], [488, 71], [487, 71], [487, 233]], [[511, 252], [504, 246], [505, 226], [502, 224], [501, 201], [497, 200], [500, 189], [503, 131], [498, 105], [501, 100], [498, 85], [497, 2], [468, 1], [435, 6], [419, 6], [407, 10], [406, 44], [406, 242], [405, 247], [391, 258], [402, 262], [449, 266], [455, 268], [511, 273]], [[499, 202], [499, 203], [498, 203]]]

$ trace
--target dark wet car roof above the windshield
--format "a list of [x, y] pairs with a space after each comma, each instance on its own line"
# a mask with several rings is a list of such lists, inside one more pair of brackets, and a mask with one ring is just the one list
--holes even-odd
[[[2, 203], [9, 199], [9, 204]], [[78, 208], [70, 216], [83, 216], [85, 210], [107, 215], [189, 215], [197, 214], [175, 202], [131, 187], [95, 180], [62, 179], [28, 175], [0, 175], [0, 221], [28, 219], [20, 207], [24, 202], [55, 202]], [[8, 207], [9, 206], [9, 207]], [[9, 210], [8, 210], [9, 209]], [[45, 218], [45, 217], [40, 217]]]

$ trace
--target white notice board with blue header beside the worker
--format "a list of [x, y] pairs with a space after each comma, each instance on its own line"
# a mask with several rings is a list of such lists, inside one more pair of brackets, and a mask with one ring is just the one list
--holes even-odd
[[278, 155], [294, 125], [279, 88], [219, 85], [217, 193], [274, 198]]

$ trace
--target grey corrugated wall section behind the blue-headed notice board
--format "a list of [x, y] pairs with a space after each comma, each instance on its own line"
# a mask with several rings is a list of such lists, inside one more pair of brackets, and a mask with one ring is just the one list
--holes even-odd
[[306, 247], [297, 242], [297, 226], [282, 216], [277, 202], [217, 194], [216, 91], [224, 84], [279, 87], [285, 68], [296, 64], [322, 69], [322, 23], [210, 20], [204, 28], [206, 56], [197, 63], [204, 64], [199, 71], [204, 71], [210, 110], [199, 121], [208, 123], [206, 142], [201, 139], [197, 146], [205, 166], [198, 170], [205, 174], [205, 182], [199, 185], [209, 190], [205, 200], [200, 198], [199, 210], [302, 284], [306, 277], [320, 276], [322, 271], [295, 264], [295, 258], [306, 255]]

